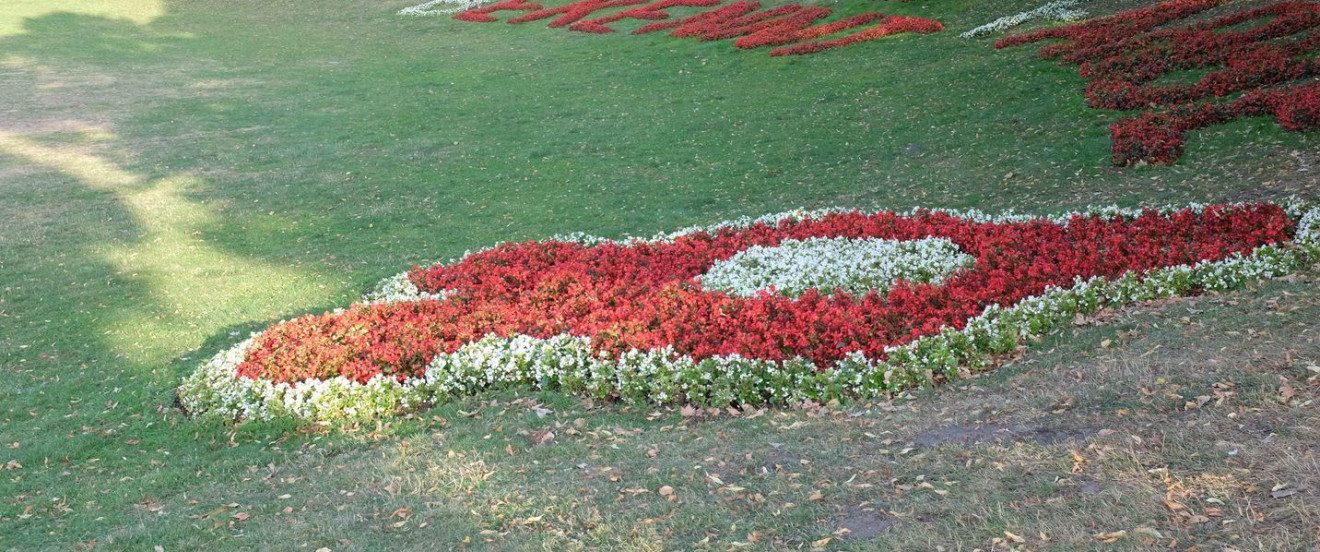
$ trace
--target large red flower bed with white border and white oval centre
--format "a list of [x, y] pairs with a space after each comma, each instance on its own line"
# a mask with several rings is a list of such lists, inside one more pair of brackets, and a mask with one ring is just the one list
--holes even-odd
[[[504, 386], [653, 404], [875, 396], [978, 370], [1076, 313], [1290, 273], [1316, 259], [1317, 226], [1320, 211], [1272, 203], [1056, 218], [834, 210], [649, 240], [502, 244], [277, 324], [202, 366], [180, 397], [247, 419], [370, 416]], [[820, 239], [861, 244], [822, 246], [845, 258], [871, 240], [916, 243], [936, 251], [916, 273], [937, 268], [927, 281], [891, 271], [899, 280], [865, 293], [847, 284], [866, 275], [846, 271], [833, 294], [702, 285], [739, 254]]]

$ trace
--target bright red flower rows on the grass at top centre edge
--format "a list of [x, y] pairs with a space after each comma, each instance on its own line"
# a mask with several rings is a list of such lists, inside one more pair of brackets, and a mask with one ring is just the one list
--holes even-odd
[[[738, 38], [734, 41], [734, 46], [743, 49], [791, 45], [771, 50], [771, 55], [809, 54], [857, 42], [873, 41], [891, 34], [928, 34], [944, 29], [937, 21], [921, 17], [886, 16], [880, 12], [867, 12], [813, 26], [816, 21], [829, 17], [833, 11], [822, 7], [801, 7], [797, 4], [760, 11], [760, 3], [756, 1], [734, 1], [733, 4], [718, 7], [719, 3], [721, 0], [659, 0], [651, 4], [647, 4], [647, 0], [578, 0], [554, 8], [545, 8], [541, 4], [532, 4], [524, 0], [506, 0], [484, 8], [461, 12], [454, 18], [459, 21], [494, 22], [498, 21], [492, 16], [495, 12], [521, 11], [531, 13], [510, 18], [508, 22], [523, 24], [549, 18], [549, 26], [552, 28], [566, 26], [569, 30], [595, 34], [612, 33], [614, 28], [610, 24], [616, 21], [656, 20], [657, 22], [643, 25], [634, 30], [634, 34], [673, 29], [669, 33], [671, 36], [697, 37], [702, 41]], [[636, 8], [623, 9], [603, 17], [587, 18], [599, 11], [624, 7]], [[669, 12], [667, 9], [676, 7], [717, 8], [669, 21]], [[814, 40], [867, 24], [875, 25], [833, 40]]]

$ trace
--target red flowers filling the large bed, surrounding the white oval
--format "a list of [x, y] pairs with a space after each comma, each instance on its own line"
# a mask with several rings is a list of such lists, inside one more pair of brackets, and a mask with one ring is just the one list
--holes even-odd
[[[1130, 219], [1073, 217], [982, 223], [941, 213], [833, 214], [693, 232], [672, 242], [504, 244], [453, 265], [414, 268], [412, 281], [444, 301], [356, 305], [305, 316], [256, 338], [238, 371], [298, 382], [342, 375], [420, 376], [438, 353], [487, 334], [590, 335], [598, 353], [672, 346], [694, 359], [810, 358], [825, 367], [942, 328], [962, 328], [990, 304], [1012, 305], [1077, 277], [1218, 260], [1284, 242], [1292, 222], [1274, 205], [1218, 206]], [[886, 294], [808, 292], [800, 298], [737, 297], [694, 280], [715, 261], [785, 239], [946, 238], [975, 258], [940, 285], [899, 281]]]

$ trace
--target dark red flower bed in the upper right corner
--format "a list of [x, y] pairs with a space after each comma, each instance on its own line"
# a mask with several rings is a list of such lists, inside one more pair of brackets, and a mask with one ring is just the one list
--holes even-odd
[[[1320, 127], [1320, 3], [1284, 1], [1168, 26], [1226, 1], [1173, 0], [1007, 37], [995, 48], [1063, 38], [1040, 57], [1078, 65], [1092, 107], [1148, 110], [1111, 127], [1115, 165], [1171, 164], [1187, 132], [1241, 116], [1272, 115], [1288, 131]], [[1263, 22], [1241, 28], [1257, 20]], [[1187, 70], [1208, 71], [1192, 83], [1156, 82]]]

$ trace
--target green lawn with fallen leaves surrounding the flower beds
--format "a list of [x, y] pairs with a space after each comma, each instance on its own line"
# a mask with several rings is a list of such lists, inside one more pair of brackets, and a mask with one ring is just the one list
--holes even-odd
[[[845, 1], [949, 32], [796, 59], [393, 15], [412, 3], [0, 7], [0, 548], [1317, 537], [1311, 276], [1078, 326], [886, 404], [684, 417], [506, 392], [360, 428], [189, 420], [173, 387], [239, 335], [498, 240], [1317, 185], [1316, 136], [1265, 119], [1195, 133], [1176, 166], [1109, 166], [1118, 114], [1084, 107], [1073, 67], [957, 38], [1038, 3]], [[1300, 493], [1270, 498], [1282, 483]]]

